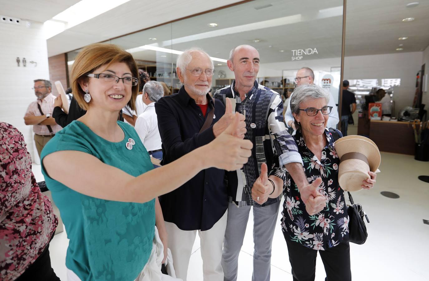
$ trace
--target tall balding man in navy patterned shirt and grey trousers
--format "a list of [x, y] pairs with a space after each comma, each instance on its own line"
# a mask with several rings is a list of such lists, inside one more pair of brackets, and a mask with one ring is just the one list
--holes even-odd
[[296, 179], [308, 211], [315, 214], [325, 206], [323, 195], [308, 184], [304, 175], [298, 148], [283, 122], [280, 95], [256, 81], [259, 62], [259, 53], [252, 46], [232, 49], [227, 64], [234, 71], [235, 80], [214, 94], [224, 104], [230, 98], [235, 111], [245, 115], [245, 138], [254, 143], [248, 163], [226, 176], [230, 203], [222, 254], [225, 281], [237, 279], [238, 257], [251, 206], [254, 206], [255, 243], [252, 280], [270, 279], [272, 238], [280, 205], [280, 199], [273, 194], [279, 194], [276, 189], [283, 189], [284, 165]]

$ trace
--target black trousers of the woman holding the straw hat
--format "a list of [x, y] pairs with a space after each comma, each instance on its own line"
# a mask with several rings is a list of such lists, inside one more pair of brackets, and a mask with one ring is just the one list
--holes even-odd
[[[290, 241], [288, 238], [286, 238], [286, 244], [292, 266], [293, 281], [314, 281], [317, 250]], [[318, 252], [325, 267], [326, 281], [351, 281], [350, 245], [348, 242], [341, 242], [335, 247]]]

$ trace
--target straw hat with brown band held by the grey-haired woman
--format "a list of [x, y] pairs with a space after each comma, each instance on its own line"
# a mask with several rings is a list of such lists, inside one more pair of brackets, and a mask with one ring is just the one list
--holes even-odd
[[335, 151], [341, 162], [338, 182], [344, 191], [359, 191], [369, 175], [377, 171], [381, 155], [377, 145], [367, 137], [351, 135], [335, 141]]

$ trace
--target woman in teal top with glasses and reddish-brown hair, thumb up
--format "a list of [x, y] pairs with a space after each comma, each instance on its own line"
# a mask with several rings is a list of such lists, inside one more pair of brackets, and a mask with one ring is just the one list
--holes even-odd
[[[136, 131], [117, 121], [125, 105], [135, 109], [139, 89], [130, 53], [109, 44], [87, 46], [76, 57], [71, 76], [74, 97], [87, 113], [42, 151], [42, 172], [70, 239], [68, 276], [135, 280], [152, 250], [154, 198], [202, 169], [241, 168], [252, 143], [235, 137], [245, 128], [243, 116], [228, 113], [226, 122], [218, 122], [224, 133], [214, 141], [152, 170]], [[162, 213], [156, 217], [163, 223]]]

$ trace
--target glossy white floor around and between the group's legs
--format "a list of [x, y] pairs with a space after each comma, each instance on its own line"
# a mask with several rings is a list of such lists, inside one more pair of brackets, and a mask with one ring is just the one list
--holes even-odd
[[[413, 156], [381, 153], [381, 173], [372, 190], [353, 193], [353, 199], [363, 205], [371, 223], [365, 244], [350, 244], [353, 280], [427, 281], [429, 280], [429, 183], [417, 179], [429, 175], [429, 162], [419, 162]], [[40, 165], [33, 164], [36, 180], [42, 180]], [[380, 194], [390, 191], [399, 199]], [[239, 257], [239, 281], [249, 281], [253, 265], [253, 215], [249, 216], [242, 252]], [[51, 262], [61, 280], [66, 280], [66, 233], [55, 235], [51, 242]], [[271, 280], [291, 281], [287, 247], [280, 229], [280, 214], [272, 247]], [[317, 258], [316, 280], [323, 281], [325, 272]], [[199, 237], [196, 235], [190, 258], [188, 281], [202, 280], [202, 260]]]

